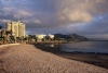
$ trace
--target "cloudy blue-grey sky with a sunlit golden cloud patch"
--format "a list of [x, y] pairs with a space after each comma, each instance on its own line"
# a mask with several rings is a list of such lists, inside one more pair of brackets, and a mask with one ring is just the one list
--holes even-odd
[[108, 39], [108, 0], [0, 0], [0, 25], [21, 21], [27, 34]]

